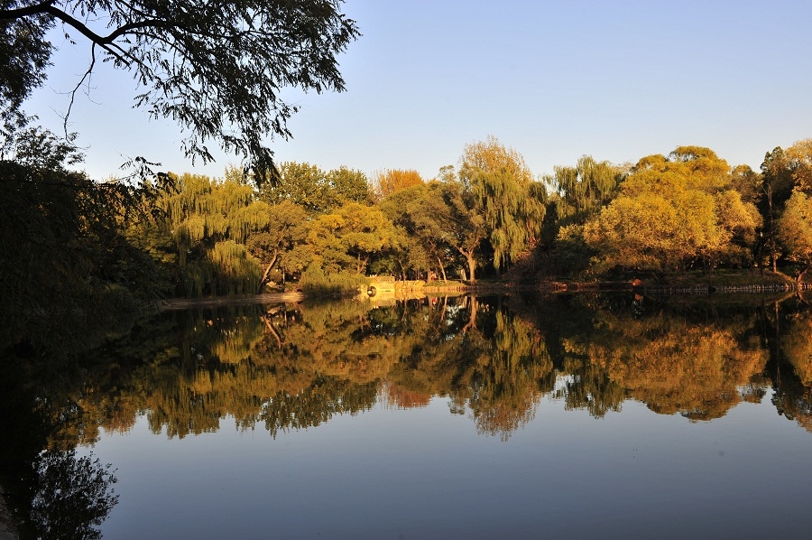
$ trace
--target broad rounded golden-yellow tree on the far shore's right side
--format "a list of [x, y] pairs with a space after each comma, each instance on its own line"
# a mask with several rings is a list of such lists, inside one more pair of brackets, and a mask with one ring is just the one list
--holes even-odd
[[761, 225], [757, 209], [731, 188], [727, 163], [711, 150], [680, 146], [666, 158], [644, 157], [620, 195], [586, 223], [584, 238], [599, 270], [666, 272], [743, 256]]

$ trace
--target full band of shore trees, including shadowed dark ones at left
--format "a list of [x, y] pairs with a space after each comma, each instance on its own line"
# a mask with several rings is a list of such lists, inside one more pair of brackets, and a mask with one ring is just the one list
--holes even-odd
[[[160, 298], [339, 295], [365, 290], [371, 275], [739, 283], [781, 271], [800, 281], [812, 263], [812, 139], [768, 152], [761, 172], [680, 146], [634, 164], [585, 156], [536, 176], [489, 137], [431, 179], [280, 163], [137, 182], [94, 182], [76, 171], [76, 148], [42, 129], [13, 143], [0, 182], [4, 347], [65, 349], [72, 336], [84, 346], [70, 321], [115, 312], [91, 332], [101, 340]], [[37, 328], [65, 336], [32, 338]]]

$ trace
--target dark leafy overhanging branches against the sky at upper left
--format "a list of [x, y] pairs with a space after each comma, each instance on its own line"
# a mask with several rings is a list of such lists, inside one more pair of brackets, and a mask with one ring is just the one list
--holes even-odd
[[23, 98], [42, 84], [55, 47], [46, 34], [59, 23], [68, 39], [89, 43], [79, 84], [109, 61], [133, 74], [136, 107], [188, 131], [182, 147], [189, 156], [212, 160], [207, 144], [214, 140], [272, 169], [264, 139], [289, 137], [287, 120], [299, 108], [280, 89], [344, 89], [337, 54], [359, 34], [341, 4], [9, 0], [0, 4], [0, 114], [19, 117]]

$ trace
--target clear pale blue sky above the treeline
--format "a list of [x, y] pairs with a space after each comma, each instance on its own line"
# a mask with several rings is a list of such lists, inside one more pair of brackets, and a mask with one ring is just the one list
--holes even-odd
[[[346, 92], [290, 94], [301, 111], [294, 138], [272, 141], [278, 162], [431, 178], [495, 135], [537, 175], [584, 154], [626, 163], [684, 144], [758, 170], [775, 146], [812, 137], [808, 0], [348, 0], [345, 13], [363, 33], [339, 59]], [[89, 48], [54, 42], [27, 110], [60, 129]], [[192, 165], [177, 126], [132, 108], [136, 92], [103, 65], [78, 98], [70, 130], [92, 177], [135, 155], [212, 176], [239, 163]]]

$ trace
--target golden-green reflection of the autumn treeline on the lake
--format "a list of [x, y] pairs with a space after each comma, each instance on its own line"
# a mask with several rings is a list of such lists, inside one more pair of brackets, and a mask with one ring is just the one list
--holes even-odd
[[[671, 303], [669, 303], [671, 302]], [[165, 313], [54, 381], [52, 444], [126, 431], [146, 414], [170, 437], [279, 433], [383, 403], [449, 398], [504, 440], [544, 396], [596, 418], [629, 399], [690, 421], [774, 389], [780, 414], [812, 431], [812, 317], [797, 300], [749, 306], [632, 296], [459, 297]], [[69, 411], [69, 414], [66, 414]]]

